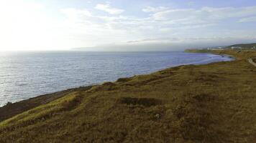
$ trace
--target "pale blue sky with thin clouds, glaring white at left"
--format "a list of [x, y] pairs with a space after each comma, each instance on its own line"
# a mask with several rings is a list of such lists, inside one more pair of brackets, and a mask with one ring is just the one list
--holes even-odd
[[178, 51], [251, 42], [255, 0], [0, 0], [0, 51]]

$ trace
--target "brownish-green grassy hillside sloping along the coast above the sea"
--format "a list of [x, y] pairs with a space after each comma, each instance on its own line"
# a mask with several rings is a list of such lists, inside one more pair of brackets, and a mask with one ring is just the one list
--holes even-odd
[[0, 122], [0, 142], [254, 142], [256, 52], [211, 52], [237, 60], [69, 92]]

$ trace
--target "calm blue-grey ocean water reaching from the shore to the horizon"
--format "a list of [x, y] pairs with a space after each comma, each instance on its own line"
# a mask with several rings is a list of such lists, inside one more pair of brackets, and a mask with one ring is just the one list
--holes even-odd
[[185, 52], [4, 52], [0, 53], [0, 107], [6, 102], [171, 66], [229, 60], [227, 56]]

